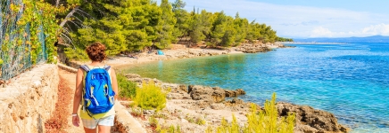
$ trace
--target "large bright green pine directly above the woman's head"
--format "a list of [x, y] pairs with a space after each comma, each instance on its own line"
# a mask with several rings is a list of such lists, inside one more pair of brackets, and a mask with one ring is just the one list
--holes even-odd
[[106, 45], [106, 52], [111, 56], [120, 51], [143, 50], [156, 40], [158, 43], [172, 40], [171, 36], [161, 36], [165, 32], [171, 33], [170, 28], [162, 27], [165, 24], [172, 27], [175, 21], [162, 21], [162, 9], [152, 1], [94, 1], [84, 2], [80, 8], [95, 18], [83, 20], [86, 27], [77, 29], [72, 35], [75, 46], [80, 49], [98, 41]]

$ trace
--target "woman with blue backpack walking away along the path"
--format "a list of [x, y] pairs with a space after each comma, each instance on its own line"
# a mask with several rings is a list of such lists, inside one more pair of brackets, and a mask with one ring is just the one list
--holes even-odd
[[[86, 133], [96, 133], [97, 130], [99, 133], [109, 133], [115, 117], [113, 107], [114, 100], [117, 98], [115, 94], [118, 93], [116, 74], [111, 66], [103, 64], [103, 60], [106, 59], [103, 43], [92, 43], [89, 45], [87, 47], [87, 55], [92, 63], [80, 66], [77, 72], [73, 113], [71, 114], [72, 122], [74, 126], [79, 127], [79, 117], [81, 117]], [[97, 72], [95, 69], [101, 69], [98, 72], [103, 73], [97, 76], [88, 74], [91, 71]], [[105, 72], [108, 74], [106, 75], [107, 78], [103, 77], [106, 74]], [[89, 81], [89, 78], [92, 80]], [[96, 78], [99, 80], [94, 80]], [[101, 79], [103, 81], [104, 79], [108, 80], [104, 85], [95, 85], [102, 84]], [[93, 82], [97, 83], [93, 84]], [[100, 87], [102, 89], [99, 89]], [[79, 105], [81, 105], [80, 110]], [[106, 105], [106, 107], [102, 107], [102, 105]]]

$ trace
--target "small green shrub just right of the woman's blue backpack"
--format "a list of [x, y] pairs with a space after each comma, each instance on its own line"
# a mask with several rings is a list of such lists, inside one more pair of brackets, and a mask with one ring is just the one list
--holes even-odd
[[137, 96], [137, 83], [127, 80], [123, 74], [117, 73], [119, 97], [120, 98], [135, 98]]

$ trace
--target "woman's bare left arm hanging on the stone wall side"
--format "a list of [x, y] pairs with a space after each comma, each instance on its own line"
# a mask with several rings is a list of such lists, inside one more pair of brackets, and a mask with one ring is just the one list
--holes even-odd
[[81, 102], [81, 97], [82, 97], [83, 77], [84, 77], [84, 72], [83, 70], [81, 70], [81, 68], [79, 68], [76, 77], [76, 90], [74, 92], [74, 98], [73, 98], [73, 114], [76, 114], [79, 111], [79, 103]]

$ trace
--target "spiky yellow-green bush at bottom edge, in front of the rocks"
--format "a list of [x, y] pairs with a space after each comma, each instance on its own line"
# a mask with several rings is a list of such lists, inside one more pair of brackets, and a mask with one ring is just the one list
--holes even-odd
[[[247, 123], [244, 127], [239, 127], [233, 115], [231, 123], [223, 118], [216, 131], [218, 133], [293, 133], [295, 115], [292, 113], [277, 121], [277, 114], [276, 93], [273, 93], [271, 101], [266, 100], [265, 102], [265, 110], [258, 111], [255, 104], [251, 105], [251, 111], [246, 115]], [[205, 132], [212, 132], [212, 129], [208, 128]]]

